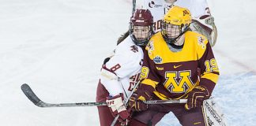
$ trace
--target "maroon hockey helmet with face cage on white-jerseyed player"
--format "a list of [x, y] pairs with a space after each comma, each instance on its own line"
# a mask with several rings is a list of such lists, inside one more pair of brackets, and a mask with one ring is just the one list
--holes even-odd
[[[136, 9], [130, 17], [130, 37], [137, 46], [146, 46], [153, 35], [153, 17], [149, 9]], [[138, 35], [140, 34], [140, 35]], [[137, 36], [143, 36], [138, 38]]]

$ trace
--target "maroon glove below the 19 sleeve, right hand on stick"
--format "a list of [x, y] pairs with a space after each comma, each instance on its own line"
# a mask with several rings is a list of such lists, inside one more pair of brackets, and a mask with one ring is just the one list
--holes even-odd
[[196, 86], [188, 93], [185, 109], [194, 109], [202, 105], [202, 102], [209, 98], [209, 91], [204, 86]]

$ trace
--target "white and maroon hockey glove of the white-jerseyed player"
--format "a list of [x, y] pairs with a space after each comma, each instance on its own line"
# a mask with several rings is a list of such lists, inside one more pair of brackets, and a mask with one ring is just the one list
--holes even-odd
[[128, 113], [126, 106], [123, 103], [122, 94], [115, 95], [114, 97], [107, 97], [106, 102], [113, 117], [119, 115], [122, 120], [126, 120], [130, 116], [130, 113]]

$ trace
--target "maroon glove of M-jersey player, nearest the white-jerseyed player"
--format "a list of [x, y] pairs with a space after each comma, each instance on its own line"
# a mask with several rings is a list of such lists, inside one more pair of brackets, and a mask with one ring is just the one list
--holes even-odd
[[144, 111], [148, 109], [148, 105], [145, 104], [143, 101], [149, 100], [151, 98], [152, 96], [149, 94], [148, 91], [134, 92], [128, 102], [129, 109], [131, 109], [132, 111]]

